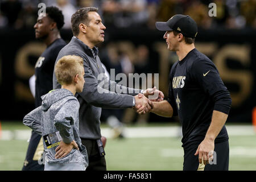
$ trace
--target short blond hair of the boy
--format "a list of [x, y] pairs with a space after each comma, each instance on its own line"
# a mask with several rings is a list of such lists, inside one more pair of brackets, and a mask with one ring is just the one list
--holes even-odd
[[76, 75], [81, 75], [84, 71], [82, 57], [75, 55], [63, 56], [55, 65], [55, 75], [57, 81], [63, 85], [72, 84]]

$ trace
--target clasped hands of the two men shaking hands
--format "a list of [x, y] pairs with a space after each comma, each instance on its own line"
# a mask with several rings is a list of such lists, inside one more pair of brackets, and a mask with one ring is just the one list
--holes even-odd
[[139, 114], [145, 114], [150, 112], [154, 108], [153, 102], [163, 101], [163, 92], [156, 89], [147, 89], [143, 91], [143, 94], [139, 93], [135, 98], [134, 110]]

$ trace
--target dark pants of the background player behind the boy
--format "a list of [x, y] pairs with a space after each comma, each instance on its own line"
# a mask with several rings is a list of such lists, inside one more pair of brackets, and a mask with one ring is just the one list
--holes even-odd
[[44, 164], [39, 164], [38, 159], [35, 157], [35, 155], [37, 155], [35, 154], [36, 151], [38, 150], [40, 152], [43, 151], [42, 144], [38, 146], [41, 138], [42, 138], [41, 135], [37, 134], [35, 131], [32, 131], [30, 143], [28, 144], [27, 155], [24, 161], [24, 166], [22, 168], [22, 171], [43, 171], [44, 170]]

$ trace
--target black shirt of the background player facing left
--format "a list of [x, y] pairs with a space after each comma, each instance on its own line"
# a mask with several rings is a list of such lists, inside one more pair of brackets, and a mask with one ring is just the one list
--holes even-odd
[[56, 39], [36, 61], [35, 65], [35, 107], [42, 105], [41, 96], [52, 90], [52, 76], [57, 55], [67, 43], [63, 39]]

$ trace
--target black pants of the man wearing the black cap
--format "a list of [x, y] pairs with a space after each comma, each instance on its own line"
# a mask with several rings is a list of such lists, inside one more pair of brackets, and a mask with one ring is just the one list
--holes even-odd
[[[184, 147], [183, 171], [196, 171], [199, 168], [199, 155], [194, 155], [199, 144], [192, 144], [187, 148]], [[216, 152], [216, 158], [214, 159], [216, 164], [206, 164], [204, 171], [228, 171], [229, 141], [215, 143], [214, 151]]]

